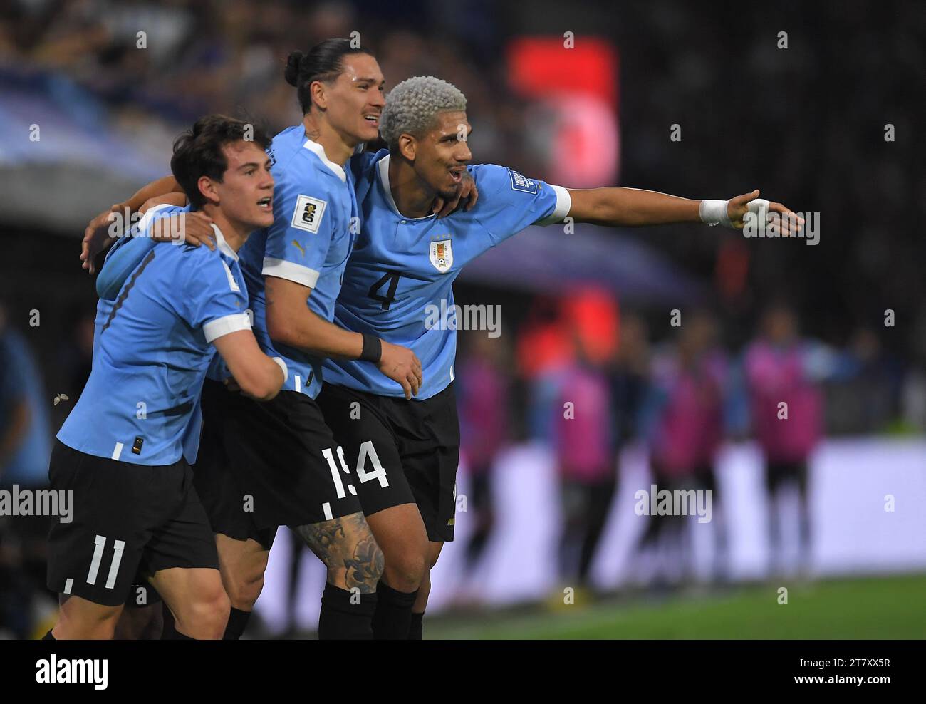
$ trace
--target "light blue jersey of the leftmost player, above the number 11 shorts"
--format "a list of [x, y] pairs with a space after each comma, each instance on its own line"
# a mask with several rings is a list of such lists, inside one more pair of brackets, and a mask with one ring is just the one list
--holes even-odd
[[[212, 341], [250, 327], [238, 256], [218, 229], [216, 238], [217, 251], [151, 246], [116, 300], [100, 302], [93, 371], [58, 440], [132, 464], [195, 456]], [[148, 245], [127, 240], [119, 250], [130, 246]]]

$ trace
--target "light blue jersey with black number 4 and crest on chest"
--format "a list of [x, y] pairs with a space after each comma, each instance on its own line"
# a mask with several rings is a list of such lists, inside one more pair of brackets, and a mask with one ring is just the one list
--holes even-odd
[[[357, 179], [362, 227], [347, 261], [334, 322], [407, 346], [421, 360], [419, 400], [454, 379], [457, 352], [454, 280], [482, 252], [533, 224], [569, 214], [569, 192], [492, 164], [469, 167], [479, 189], [472, 210], [437, 220], [407, 218], [389, 187], [389, 154], [376, 155], [372, 173]], [[380, 396], [404, 396], [402, 387], [370, 362], [325, 361], [325, 382]]]

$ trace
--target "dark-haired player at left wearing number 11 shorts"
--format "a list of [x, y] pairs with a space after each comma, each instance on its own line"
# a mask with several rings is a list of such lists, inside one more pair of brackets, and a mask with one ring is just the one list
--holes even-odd
[[287, 377], [245, 313], [237, 252], [273, 220], [273, 178], [269, 140], [244, 134], [244, 123], [211, 116], [175, 143], [171, 170], [212, 219], [217, 251], [163, 246], [132, 271], [57, 435], [49, 478], [74, 491], [75, 516], [49, 534], [48, 586], [62, 605], [46, 638], [111, 638], [136, 572], [169, 606], [174, 637], [219, 638], [225, 628], [229, 600], [184, 438], [216, 350], [255, 398], [276, 396]]

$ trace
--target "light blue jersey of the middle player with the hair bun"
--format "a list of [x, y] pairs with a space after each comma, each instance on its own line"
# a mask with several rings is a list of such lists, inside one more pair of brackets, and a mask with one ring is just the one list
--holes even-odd
[[344, 265], [359, 230], [353, 176], [325, 157], [302, 125], [273, 138], [273, 224], [252, 233], [241, 248], [242, 270], [254, 311], [254, 333], [270, 357], [289, 368], [284, 390], [314, 398], [321, 390], [321, 360], [270, 339], [264, 277], [276, 276], [312, 289], [307, 306], [332, 321]]

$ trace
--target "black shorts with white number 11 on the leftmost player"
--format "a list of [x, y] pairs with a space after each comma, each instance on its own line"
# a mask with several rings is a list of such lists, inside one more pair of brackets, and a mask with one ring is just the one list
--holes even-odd
[[141, 465], [55, 443], [48, 477], [73, 491], [73, 520], [48, 534], [48, 588], [119, 606], [132, 585], [173, 567], [219, 569], [216, 542], [185, 459]]

